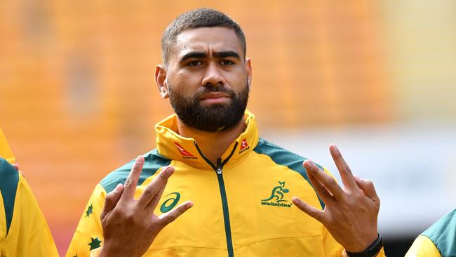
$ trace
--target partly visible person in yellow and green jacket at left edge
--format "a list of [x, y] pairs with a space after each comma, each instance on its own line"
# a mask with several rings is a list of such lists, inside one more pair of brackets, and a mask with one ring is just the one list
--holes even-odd
[[0, 128], [0, 256], [58, 256], [48, 223]]

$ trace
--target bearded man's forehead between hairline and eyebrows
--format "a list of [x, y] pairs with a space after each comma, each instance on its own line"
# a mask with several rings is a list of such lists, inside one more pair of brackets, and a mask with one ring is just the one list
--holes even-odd
[[234, 29], [227, 27], [187, 29], [177, 35], [173, 48], [177, 58], [192, 51], [234, 51], [242, 56], [241, 41]]

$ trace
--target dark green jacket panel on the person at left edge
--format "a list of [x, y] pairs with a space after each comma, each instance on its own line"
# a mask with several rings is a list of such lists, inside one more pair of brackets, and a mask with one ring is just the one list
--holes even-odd
[[4, 199], [4, 209], [6, 216], [6, 235], [11, 226], [14, 213], [14, 201], [16, 198], [16, 191], [18, 190], [19, 172], [6, 161], [0, 157], [0, 191], [1, 197]]

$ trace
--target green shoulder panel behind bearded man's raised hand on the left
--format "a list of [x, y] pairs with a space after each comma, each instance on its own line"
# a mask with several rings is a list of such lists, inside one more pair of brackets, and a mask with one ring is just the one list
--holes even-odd
[[[143, 156], [145, 162], [142, 167], [140, 179], [138, 180], [138, 185], [141, 185], [144, 180], [153, 176], [161, 167], [168, 166], [171, 163], [170, 159], [161, 156], [156, 149], [143, 154]], [[131, 168], [133, 168], [133, 164], [135, 164], [135, 159], [128, 162], [128, 164], [121, 166], [119, 169], [112, 171], [101, 180], [100, 184], [105, 189], [106, 193], [114, 190], [117, 185], [125, 183]]]

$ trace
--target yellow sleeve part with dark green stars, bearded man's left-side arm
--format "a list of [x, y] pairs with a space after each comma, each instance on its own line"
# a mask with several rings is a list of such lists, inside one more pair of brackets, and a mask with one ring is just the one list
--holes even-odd
[[67, 257], [88, 257], [91, 251], [103, 245], [100, 214], [105, 205], [106, 191], [98, 184], [84, 209], [81, 220], [69, 243]]

